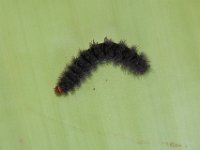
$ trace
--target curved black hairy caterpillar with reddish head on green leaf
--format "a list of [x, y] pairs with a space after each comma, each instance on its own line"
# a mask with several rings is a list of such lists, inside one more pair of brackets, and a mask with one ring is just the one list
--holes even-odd
[[63, 71], [55, 93], [60, 95], [73, 91], [98, 64], [111, 61], [137, 75], [146, 73], [150, 68], [146, 56], [143, 53], [138, 54], [135, 47], [129, 48], [124, 41], [114, 43], [107, 38], [99, 44], [93, 41], [90, 48], [80, 51], [79, 56]]

